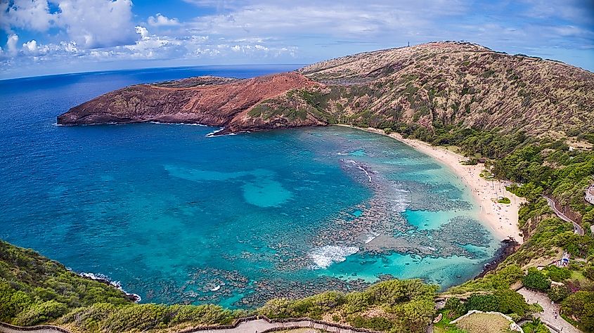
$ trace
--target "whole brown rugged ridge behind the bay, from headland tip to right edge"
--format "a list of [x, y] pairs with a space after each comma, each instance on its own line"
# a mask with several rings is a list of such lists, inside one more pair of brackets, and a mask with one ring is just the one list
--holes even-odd
[[594, 132], [594, 74], [470, 43], [348, 55], [254, 79], [131, 86], [73, 107], [59, 124], [189, 122], [221, 133], [333, 123], [464, 125], [531, 135]]

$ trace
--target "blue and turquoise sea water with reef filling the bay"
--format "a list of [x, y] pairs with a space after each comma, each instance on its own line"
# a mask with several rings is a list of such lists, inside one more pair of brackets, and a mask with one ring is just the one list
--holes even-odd
[[143, 302], [255, 306], [392, 275], [441, 287], [499, 247], [448, 169], [343, 127], [207, 137], [205, 126], [56, 126], [105, 91], [195, 67], [0, 81], [0, 237]]

